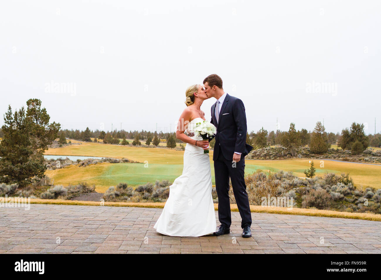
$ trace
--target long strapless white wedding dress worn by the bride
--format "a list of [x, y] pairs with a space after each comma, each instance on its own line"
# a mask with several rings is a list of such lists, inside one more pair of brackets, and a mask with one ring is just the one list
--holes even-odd
[[[186, 132], [194, 140], [201, 136], [191, 136], [197, 121], [189, 122]], [[209, 154], [201, 147], [186, 144], [184, 151], [184, 169], [170, 186], [168, 200], [154, 229], [157, 232], [182, 237], [197, 237], [216, 231], [216, 215], [212, 198], [212, 178]]]

